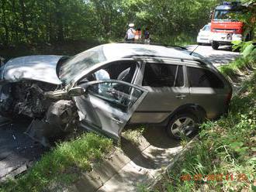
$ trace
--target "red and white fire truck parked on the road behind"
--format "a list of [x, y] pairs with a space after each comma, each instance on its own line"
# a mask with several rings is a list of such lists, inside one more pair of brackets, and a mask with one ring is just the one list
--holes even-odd
[[211, 21], [210, 40], [214, 50], [220, 45], [230, 45], [234, 40], [250, 39], [250, 34], [244, 34], [244, 23], [239, 21], [240, 14], [246, 9], [240, 2], [223, 2], [223, 5], [216, 6]]

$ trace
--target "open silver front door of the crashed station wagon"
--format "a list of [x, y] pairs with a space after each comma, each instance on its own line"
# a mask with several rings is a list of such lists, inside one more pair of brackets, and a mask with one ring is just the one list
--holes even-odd
[[80, 84], [85, 94], [74, 97], [82, 128], [119, 140], [147, 90], [124, 81], [102, 80]]

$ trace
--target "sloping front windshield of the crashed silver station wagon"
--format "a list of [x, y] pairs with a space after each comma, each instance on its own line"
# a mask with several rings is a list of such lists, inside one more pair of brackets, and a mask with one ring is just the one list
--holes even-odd
[[102, 46], [96, 46], [71, 57], [61, 66], [60, 79], [64, 84], [69, 84], [81, 71], [97, 63], [106, 61]]

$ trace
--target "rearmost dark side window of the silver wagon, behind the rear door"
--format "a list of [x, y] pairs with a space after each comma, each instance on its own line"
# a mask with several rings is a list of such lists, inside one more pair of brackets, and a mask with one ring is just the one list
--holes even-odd
[[188, 67], [190, 87], [223, 88], [223, 81], [216, 74], [206, 69]]

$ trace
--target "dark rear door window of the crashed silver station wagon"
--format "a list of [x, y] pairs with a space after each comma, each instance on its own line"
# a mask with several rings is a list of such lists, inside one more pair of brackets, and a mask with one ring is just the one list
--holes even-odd
[[164, 63], [146, 63], [142, 86], [182, 87], [183, 85], [182, 66]]

